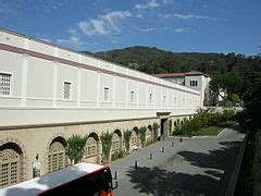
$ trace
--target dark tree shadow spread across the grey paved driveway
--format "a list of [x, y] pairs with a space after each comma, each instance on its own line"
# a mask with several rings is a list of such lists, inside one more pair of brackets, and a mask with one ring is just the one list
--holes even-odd
[[187, 174], [161, 168], [132, 167], [127, 171], [134, 188], [140, 194], [173, 196], [224, 195], [243, 142], [221, 142], [221, 148], [207, 154], [181, 151], [190, 164], [206, 169], [204, 174]]

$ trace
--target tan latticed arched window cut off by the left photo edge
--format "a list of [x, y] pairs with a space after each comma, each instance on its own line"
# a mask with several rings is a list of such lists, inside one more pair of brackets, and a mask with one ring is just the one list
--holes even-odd
[[0, 148], [0, 187], [21, 182], [22, 149], [13, 143]]

